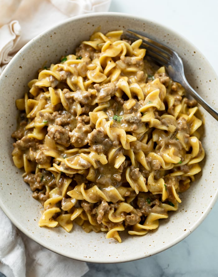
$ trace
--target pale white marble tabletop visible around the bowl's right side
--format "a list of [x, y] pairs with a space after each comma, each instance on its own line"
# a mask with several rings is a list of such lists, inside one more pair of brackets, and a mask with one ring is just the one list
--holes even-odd
[[[112, 0], [111, 12], [160, 22], [185, 36], [203, 53], [218, 75], [218, 2], [190, 0]], [[218, 92], [217, 92], [218, 93]], [[84, 277], [217, 277], [218, 202], [186, 239], [152, 257], [121, 264], [88, 264]]]

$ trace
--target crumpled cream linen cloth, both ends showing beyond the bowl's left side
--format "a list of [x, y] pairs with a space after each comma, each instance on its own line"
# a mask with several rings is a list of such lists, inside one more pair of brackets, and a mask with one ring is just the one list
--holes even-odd
[[[69, 17], [105, 12], [111, 0], [1, 0], [0, 74], [14, 54], [40, 32]], [[43, 22], [43, 24], [42, 24]], [[88, 271], [84, 262], [45, 249], [22, 234], [0, 208], [0, 276], [70, 277]]]

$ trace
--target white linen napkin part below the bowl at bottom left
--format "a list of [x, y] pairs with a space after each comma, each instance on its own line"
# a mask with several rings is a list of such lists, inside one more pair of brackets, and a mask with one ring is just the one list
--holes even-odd
[[88, 271], [86, 263], [58, 255], [22, 234], [1, 209], [0, 222], [0, 272], [5, 276], [79, 277]]

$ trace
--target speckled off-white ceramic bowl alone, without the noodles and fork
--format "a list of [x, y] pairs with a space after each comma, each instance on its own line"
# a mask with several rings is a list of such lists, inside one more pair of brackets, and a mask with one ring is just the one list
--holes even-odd
[[157, 23], [121, 13], [97, 13], [73, 17], [27, 43], [12, 59], [0, 77], [1, 165], [0, 206], [15, 226], [40, 245], [61, 255], [87, 262], [116, 263], [145, 258], [159, 253], [194, 231], [210, 212], [218, 196], [217, 134], [218, 124], [207, 112], [202, 138], [206, 158], [202, 173], [190, 189], [180, 194], [182, 203], [167, 220], [161, 220], [157, 231], [145, 236], [126, 236], [122, 243], [106, 239], [105, 233], [85, 233], [81, 227], [67, 233], [62, 228], [40, 228], [41, 205], [32, 198], [21, 171], [12, 162], [12, 132], [16, 128], [15, 100], [27, 91], [27, 83], [37, 69], [58, 62], [73, 52], [80, 41], [87, 40], [97, 27], [103, 33], [128, 28], [144, 31], [175, 49], [182, 57], [190, 84], [218, 109], [218, 79], [204, 56], [179, 34]]

